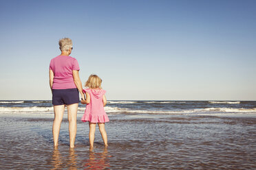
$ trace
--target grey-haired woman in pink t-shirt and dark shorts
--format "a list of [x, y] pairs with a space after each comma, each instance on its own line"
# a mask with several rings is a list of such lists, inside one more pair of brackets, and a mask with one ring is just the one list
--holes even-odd
[[85, 95], [78, 74], [78, 62], [70, 56], [73, 49], [72, 40], [63, 38], [58, 41], [58, 45], [60, 45], [61, 55], [51, 60], [49, 70], [52, 104], [54, 105], [54, 122], [52, 125], [54, 147], [58, 146], [58, 134], [65, 106], [67, 106], [67, 119], [69, 121], [70, 147], [74, 147], [79, 93], [82, 99], [85, 99]]

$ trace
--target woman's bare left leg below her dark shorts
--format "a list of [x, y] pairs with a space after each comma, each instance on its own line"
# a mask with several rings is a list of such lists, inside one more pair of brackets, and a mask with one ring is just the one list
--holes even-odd
[[61, 121], [63, 119], [63, 113], [65, 105], [54, 106], [54, 122], [52, 125], [52, 136], [54, 138], [54, 147], [58, 146], [58, 134], [61, 129]]

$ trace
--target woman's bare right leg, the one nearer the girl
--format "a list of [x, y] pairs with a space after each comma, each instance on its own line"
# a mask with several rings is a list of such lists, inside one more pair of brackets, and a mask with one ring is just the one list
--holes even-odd
[[77, 109], [78, 109], [78, 104], [67, 105], [67, 119], [69, 121], [69, 131], [70, 131], [70, 147], [74, 147], [74, 142], [76, 141]]

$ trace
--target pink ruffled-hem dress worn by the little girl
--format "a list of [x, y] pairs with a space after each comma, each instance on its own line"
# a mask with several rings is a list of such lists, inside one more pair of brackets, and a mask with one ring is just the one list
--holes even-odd
[[83, 89], [83, 92], [89, 93], [90, 102], [86, 105], [85, 114], [81, 121], [89, 121], [92, 123], [105, 123], [109, 121], [109, 117], [104, 110], [103, 106], [103, 95], [105, 95], [106, 90], [103, 89]]

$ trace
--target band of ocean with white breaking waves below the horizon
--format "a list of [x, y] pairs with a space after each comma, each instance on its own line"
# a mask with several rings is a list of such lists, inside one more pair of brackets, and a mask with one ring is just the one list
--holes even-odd
[[[256, 101], [107, 101], [107, 114], [226, 115], [255, 114]], [[85, 106], [79, 104], [78, 114]], [[52, 101], [0, 101], [0, 113], [52, 114]]]

